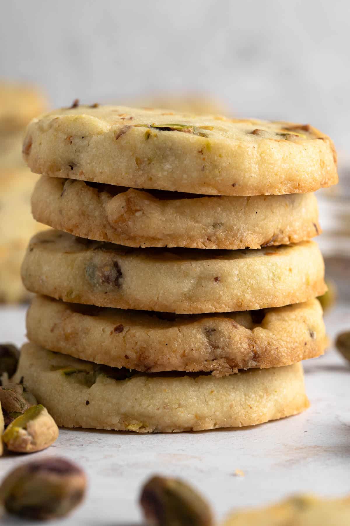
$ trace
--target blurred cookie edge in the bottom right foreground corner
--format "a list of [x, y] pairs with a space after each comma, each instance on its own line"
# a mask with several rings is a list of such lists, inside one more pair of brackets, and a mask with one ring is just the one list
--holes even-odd
[[347, 526], [350, 524], [350, 497], [320, 499], [296, 495], [260, 510], [232, 513], [222, 526]]

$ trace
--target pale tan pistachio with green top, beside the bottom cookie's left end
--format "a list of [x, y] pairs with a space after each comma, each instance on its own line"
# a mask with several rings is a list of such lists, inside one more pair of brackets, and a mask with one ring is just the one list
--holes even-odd
[[16, 453], [33, 453], [48, 448], [58, 437], [55, 420], [44, 406], [29, 407], [15, 418], [3, 433], [7, 449]]

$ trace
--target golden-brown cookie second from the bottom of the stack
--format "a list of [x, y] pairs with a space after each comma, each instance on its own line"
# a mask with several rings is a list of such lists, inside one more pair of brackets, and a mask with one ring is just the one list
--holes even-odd
[[320, 356], [326, 347], [316, 299], [267, 310], [211, 315], [105, 309], [36, 296], [27, 336], [46, 349], [143, 372], [280, 367]]

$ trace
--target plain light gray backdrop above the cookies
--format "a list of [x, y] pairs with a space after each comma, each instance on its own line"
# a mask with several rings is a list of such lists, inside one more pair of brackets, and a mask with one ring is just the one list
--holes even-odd
[[192, 90], [238, 116], [310, 122], [340, 148], [348, 122], [348, 0], [0, 0], [0, 76], [52, 105]]

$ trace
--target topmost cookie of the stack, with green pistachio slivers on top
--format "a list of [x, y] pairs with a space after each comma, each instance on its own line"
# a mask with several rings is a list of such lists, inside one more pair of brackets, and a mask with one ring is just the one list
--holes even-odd
[[329, 137], [309, 125], [123, 106], [34, 119], [31, 170], [54, 177], [208, 195], [307, 193], [338, 181]]

